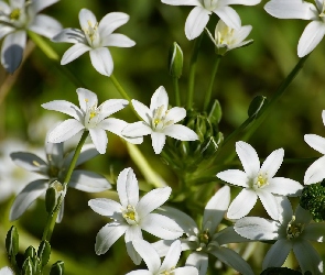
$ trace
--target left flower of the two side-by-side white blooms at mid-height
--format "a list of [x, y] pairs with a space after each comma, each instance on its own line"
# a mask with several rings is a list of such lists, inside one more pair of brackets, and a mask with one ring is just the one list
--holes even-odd
[[[129, 101], [124, 99], [109, 99], [99, 107], [97, 96], [90, 90], [77, 89], [80, 108], [65, 100], [54, 100], [42, 105], [44, 109], [66, 113], [74, 119], [68, 119], [57, 125], [48, 135], [48, 141], [58, 143], [66, 141], [80, 131], [88, 130], [90, 138], [100, 154], [105, 154], [107, 146], [107, 135], [105, 130], [117, 135], [121, 135], [121, 130], [127, 122], [112, 119], [110, 114], [123, 109]], [[132, 143], [141, 143], [140, 139], [126, 139]]]

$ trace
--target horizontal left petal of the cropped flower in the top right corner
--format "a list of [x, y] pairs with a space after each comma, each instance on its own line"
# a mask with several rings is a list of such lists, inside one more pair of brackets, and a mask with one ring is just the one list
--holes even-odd
[[264, 10], [279, 19], [311, 20], [317, 15], [315, 6], [302, 0], [272, 0], [264, 6]]

